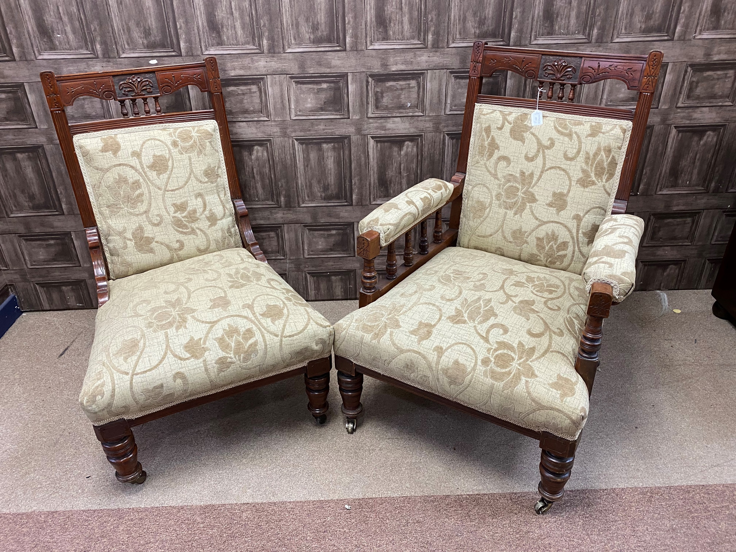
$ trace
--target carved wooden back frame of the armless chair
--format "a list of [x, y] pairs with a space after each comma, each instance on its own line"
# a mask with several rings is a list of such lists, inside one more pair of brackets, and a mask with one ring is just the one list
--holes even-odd
[[[227, 126], [222, 85], [215, 57], [205, 57], [199, 63], [155, 68], [143, 67], [66, 75], [43, 71], [40, 79], [43, 92], [46, 94], [46, 102], [51, 110], [52, 121], [54, 121], [54, 128], [59, 138], [74, 197], [77, 199], [79, 215], [88, 236], [99, 305], [107, 300], [107, 260], [104, 250], [100, 247], [97, 222], [73, 141], [74, 135], [85, 132], [143, 127], [165, 122], [216, 121], [222, 144], [227, 185], [230, 198], [235, 205], [243, 245], [259, 261], [266, 262], [266, 257], [253, 237], [248, 211], [241, 199], [241, 187], [238, 182], [233, 144], [230, 141], [230, 129]], [[159, 102], [160, 96], [174, 93], [185, 86], [196, 86], [200, 91], [207, 93], [212, 108], [163, 113]], [[117, 103], [121, 118], [70, 124], [66, 116], [66, 107], [74, 105], [77, 98], [81, 96], [92, 96]]]

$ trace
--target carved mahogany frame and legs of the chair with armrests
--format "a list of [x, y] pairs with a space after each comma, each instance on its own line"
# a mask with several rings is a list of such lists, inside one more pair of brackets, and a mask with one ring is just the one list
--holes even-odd
[[[451, 179], [454, 190], [450, 199], [445, 203], [445, 205], [451, 205], [449, 228], [443, 230], [442, 207], [445, 206], [443, 205], [436, 210], [434, 215], [428, 216], [418, 224], [420, 226], [420, 243], [417, 256], [414, 255], [411, 245], [411, 232], [414, 228], [408, 230], [404, 238], [403, 265], [397, 266], [395, 242], [387, 244], [386, 275], [381, 277], [375, 270], [375, 258], [381, 252], [381, 241], [378, 232], [367, 230], [358, 236], [357, 252], [358, 256], [364, 260], [359, 306], [364, 307], [377, 300], [401, 280], [427, 263], [434, 255], [446, 247], [456, 244], [460, 227], [462, 191], [467, 169], [475, 104], [528, 107], [531, 109], [537, 106], [536, 99], [481, 94], [484, 77], [490, 77], [495, 71], [513, 71], [526, 79], [536, 80], [539, 88], [542, 89], [540, 91], [542, 97], [544, 97], [544, 87], [547, 87], [546, 98], [539, 100], [539, 110], [542, 111], [632, 121], [633, 128], [629, 147], [626, 150], [612, 210], [612, 213], [616, 214], [626, 213], [626, 202], [631, 193], [631, 184], [636, 174], [646, 130], [646, 121], [654, 91], [657, 87], [661, 66], [662, 52], [659, 51], [649, 52], [648, 55], [592, 54], [492, 46], [480, 40], [473, 43], [457, 170]], [[604, 79], [621, 80], [626, 83], [629, 90], [638, 91], [639, 98], [636, 108], [629, 110], [574, 103], [578, 85], [590, 84]], [[556, 94], [555, 88], [557, 88]], [[427, 236], [427, 223], [432, 218], [434, 218], [434, 231], [430, 243]], [[592, 390], [595, 371], [598, 364], [600, 364], [598, 350], [601, 348], [603, 320], [609, 316], [611, 305], [614, 304], [613, 292], [609, 284], [592, 284], [588, 300], [587, 319], [580, 338], [575, 363], [576, 372], [583, 378], [589, 394]], [[437, 394], [417, 389], [408, 383], [380, 374], [338, 355], [335, 356], [335, 364], [338, 370], [339, 390], [342, 395], [342, 412], [347, 419], [346, 428], [348, 433], [355, 431], [357, 419], [363, 412], [363, 406], [360, 402], [363, 376], [369, 375], [414, 394], [452, 406], [483, 420], [494, 422], [504, 428], [537, 439], [539, 447], [542, 449], [542, 459], [539, 463], [539, 472], [541, 473], [539, 494], [542, 495], [542, 498], [537, 502], [535, 510], [538, 514], [544, 514], [550, 509], [552, 503], [562, 498], [565, 492], [565, 483], [570, 478], [570, 470], [573, 467], [579, 437], [575, 441], [569, 441], [544, 431], [531, 431], [522, 428], [519, 425], [500, 420], [490, 414], [484, 414]]]

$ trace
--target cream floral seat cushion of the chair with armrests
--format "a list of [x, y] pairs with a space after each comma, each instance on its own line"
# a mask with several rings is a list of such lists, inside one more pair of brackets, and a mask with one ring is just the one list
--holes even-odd
[[450, 247], [335, 325], [335, 354], [534, 431], [576, 439], [579, 275]]

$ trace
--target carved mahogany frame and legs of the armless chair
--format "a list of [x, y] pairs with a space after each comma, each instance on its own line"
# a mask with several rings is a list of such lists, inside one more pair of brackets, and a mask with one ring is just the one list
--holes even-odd
[[[40, 79], [43, 84], [43, 91], [46, 94], [46, 102], [48, 102], [51, 110], [54, 128], [59, 137], [66, 169], [71, 179], [71, 187], [74, 190], [74, 197], [77, 199], [79, 215], [82, 217], [82, 224], [85, 227], [99, 306], [104, 305], [109, 299], [107, 280], [110, 278], [107, 272], [105, 250], [100, 242], [92, 204], [82, 177], [82, 169], [79, 167], [77, 153], [74, 151], [73, 136], [83, 132], [123, 129], [167, 122], [205, 121], [210, 119], [216, 121], [222, 143], [227, 184], [235, 209], [242, 245], [258, 261], [268, 263], [266, 256], [258, 247], [258, 241], [255, 240], [248, 210], [242, 199], [233, 155], [233, 144], [230, 142], [230, 130], [227, 127], [222, 85], [215, 57], [205, 57], [199, 63], [122, 69], [119, 71], [94, 71], [66, 75], [56, 75], [52, 71], [43, 71], [40, 74]], [[212, 108], [163, 113], [159, 103], [160, 96], [174, 93], [180, 88], [190, 85], [196, 86], [200, 91], [208, 94]], [[66, 117], [66, 107], [73, 105], [74, 101], [80, 96], [93, 96], [110, 102], [118, 102], [122, 118], [70, 124]], [[141, 101], [141, 108], [138, 107], [139, 100]], [[151, 104], [149, 104], [150, 101], [152, 101]], [[130, 111], [128, 107], [130, 107]], [[141, 113], [141, 109], [143, 113]], [[311, 361], [305, 367], [295, 368], [289, 372], [244, 383], [231, 389], [208, 394], [205, 397], [188, 400], [142, 417], [130, 420], [115, 420], [104, 425], [93, 425], [94, 432], [99, 442], [102, 443], [102, 449], [105, 451], [107, 460], [116, 470], [118, 481], [143, 483], [146, 479], [146, 472], [138, 461], [138, 447], [135, 445], [135, 439], [131, 431], [131, 428], [135, 425], [141, 425], [151, 420], [169, 416], [169, 414], [175, 414], [188, 408], [210, 403], [213, 400], [247, 391], [247, 389], [255, 389], [300, 374], [303, 374], [305, 379], [308, 409], [317, 422], [324, 423], [328, 411], [327, 395], [331, 367], [329, 357], [321, 358]]]

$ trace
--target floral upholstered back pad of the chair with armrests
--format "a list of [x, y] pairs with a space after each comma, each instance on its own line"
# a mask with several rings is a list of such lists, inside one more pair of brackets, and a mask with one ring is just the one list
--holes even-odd
[[631, 121], [476, 104], [458, 245], [581, 274]]

